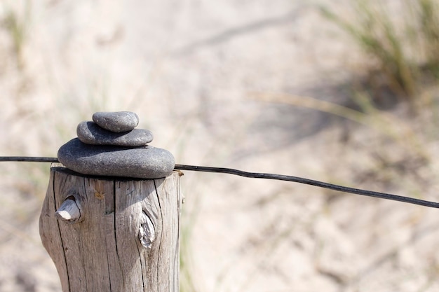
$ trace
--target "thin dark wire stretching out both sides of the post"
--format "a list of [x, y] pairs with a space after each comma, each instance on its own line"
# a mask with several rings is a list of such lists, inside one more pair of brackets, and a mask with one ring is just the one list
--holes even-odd
[[[0, 162], [59, 162], [58, 158], [50, 157], [23, 157], [23, 156], [0, 156]], [[237, 176], [245, 176], [252, 179], [275, 179], [278, 181], [292, 181], [295, 183], [304, 183], [310, 186], [317, 186], [319, 188], [327, 188], [330, 190], [337, 190], [343, 193], [351, 193], [354, 195], [365, 195], [367, 197], [378, 197], [380, 199], [393, 200], [398, 202], [405, 202], [408, 204], [417, 204], [424, 207], [439, 208], [439, 202], [431, 202], [426, 200], [415, 199], [414, 197], [404, 197], [401, 195], [393, 195], [389, 193], [380, 193], [373, 190], [363, 190], [360, 188], [349, 188], [347, 186], [339, 186], [332, 183], [325, 183], [323, 181], [315, 181], [313, 179], [305, 179], [299, 176], [288, 176], [283, 174], [266, 174], [260, 172], [244, 172], [238, 169], [224, 168], [224, 167], [205, 167], [197, 165], [175, 165], [177, 170], [188, 170], [192, 172], [216, 172], [224, 174], [234, 174]]]

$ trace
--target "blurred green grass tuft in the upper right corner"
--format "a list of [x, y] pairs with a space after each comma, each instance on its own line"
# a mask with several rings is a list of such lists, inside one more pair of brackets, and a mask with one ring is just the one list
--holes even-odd
[[402, 4], [398, 20], [388, 4], [365, 0], [353, 1], [353, 20], [325, 7], [320, 11], [377, 63], [370, 67], [370, 88], [379, 78], [398, 97], [414, 102], [424, 81], [438, 78], [439, 7], [435, 0]]

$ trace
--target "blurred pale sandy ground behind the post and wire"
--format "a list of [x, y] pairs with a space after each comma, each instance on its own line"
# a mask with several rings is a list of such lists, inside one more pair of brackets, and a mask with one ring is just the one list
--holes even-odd
[[[439, 200], [437, 104], [368, 125], [301, 106], [352, 106], [367, 62], [318, 5], [343, 8], [2, 0], [0, 155], [55, 156], [95, 111], [126, 110], [180, 164]], [[38, 232], [49, 167], [0, 164], [1, 292], [60, 291]], [[435, 209], [228, 174], [182, 188], [182, 291], [439, 291]]]

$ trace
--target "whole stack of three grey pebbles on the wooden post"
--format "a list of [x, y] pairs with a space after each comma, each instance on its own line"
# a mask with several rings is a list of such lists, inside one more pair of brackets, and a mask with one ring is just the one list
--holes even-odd
[[158, 179], [175, 167], [173, 155], [147, 145], [149, 130], [135, 129], [138, 116], [130, 111], [97, 112], [93, 122], [79, 123], [78, 138], [60, 147], [58, 160], [81, 174]]

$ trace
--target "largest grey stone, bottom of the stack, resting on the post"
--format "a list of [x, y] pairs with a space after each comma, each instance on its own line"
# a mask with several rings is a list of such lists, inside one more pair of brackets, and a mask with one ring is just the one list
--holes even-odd
[[75, 138], [60, 147], [58, 160], [80, 174], [159, 179], [173, 172], [175, 159], [162, 148], [92, 146]]

